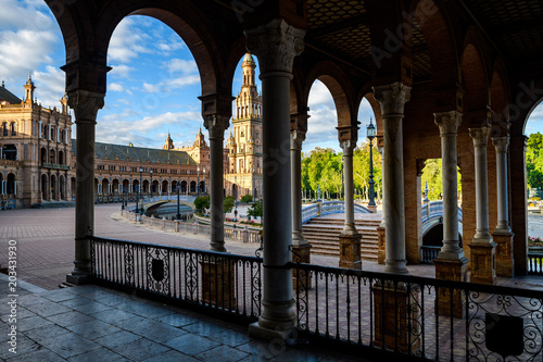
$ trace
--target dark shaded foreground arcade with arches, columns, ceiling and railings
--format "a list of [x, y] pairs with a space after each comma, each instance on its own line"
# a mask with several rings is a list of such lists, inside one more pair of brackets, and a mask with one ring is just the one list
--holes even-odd
[[[389, 351], [387, 357], [394, 360], [400, 355], [455, 360], [454, 353], [464, 353], [459, 360], [490, 360], [497, 355], [492, 353], [505, 359], [522, 352], [531, 357], [519, 360], [541, 359], [541, 304], [534, 303], [525, 319], [514, 310], [502, 312], [509, 301], [519, 300], [516, 297], [541, 300], [543, 296], [494, 285], [496, 276], [529, 272], [525, 127], [543, 99], [540, 1], [46, 3], [64, 38], [66, 60], [61, 68], [77, 125], [75, 259], [67, 282], [103, 284], [212, 315], [238, 319], [243, 313], [252, 323], [251, 338], [295, 342], [303, 334], [310, 344], [327, 340], [342, 344], [339, 349], [356, 345], [361, 355], [382, 357]], [[130, 15], [167, 24], [198, 65], [202, 92], [198, 99], [210, 133], [210, 251], [104, 240], [89, 234], [96, 229], [92, 152], [111, 70], [108, 48], [115, 27]], [[257, 58], [262, 79], [262, 111], [251, 112], [262, 118], [264, 223], [258, 255], [263, 258], [227, 253], [225, 244], [224, 140], [232, 118], [233, 74], [248, 51]], [[316, 79], [330, 90], [337, 109], [332, 129], [343, 151], [345, 189], [338, 242], [345, 257], [359, 249], [362, 232], [353, 202], [353, 150], [364, 137], [357, 114], [363, 98], [372, 107], [383, 163], [383, 273], [304, 263], [303, 250], [308, 248], [302, 235], [301, 146]], [[236, 114], [232, 124], [247, 116]], [[256, 140], [251, 133], [258, 127], [248, 125], [240, 124], [240, 136], [243, 132], [248, 140]], [[236, 158], [228, 159], [238, 163], [236, 172], [245, 172], [247, 162], [255, 166], [257, 158], [238, 158], [236, 146]], [[422, 246], [420, 175], [425, 161], [437, 158], [442, 159], [443, 172], [443, 245], [434, 260], [435, 278], [413, 278], [407, 264], [420, 262]], [[114, 262], [112, 252], [128, 261], [117, 264], [121, 278], [104, 274], [109, 269], [100, 270]], [[141, 254], [135, 258], [136, 252]], [[294, 257], [302, 263], [293, 263]], [[189, 263], [175, 264], [185, 261]], [[362, 263], [352, 264], [364, 269]], [[174, 270], [185, 274], [172, 275]], [[245, 275], [251, 279], [236, 279]], [[336, 290], [330, 307], [329, 280]], [[303, 282], [305, 286], [300, 285]], [[495, 298], [478, 298], [481, 292]], [[513, 297], [503, 303], [502, 295]], [[310, 308], [310, 297], [319, 309]], [[523, 333], [523, 323], [533, 319], [538, 321], [529, 328], [535, 338]], [[441, 329], [454, 325], [465, 326], [456, 334], [460, 339], [453, 339], [454, 330]], [[342, 326], [345, 339], [339, 336]], [[441, 332], [451, 339], [441, 339]], [[501, 346], [509, 345], [504, 336], [519, 341]], [[427, 342], [429, 338], [435, 344]], [[532, 342], [535, 351], [527, 347]]]

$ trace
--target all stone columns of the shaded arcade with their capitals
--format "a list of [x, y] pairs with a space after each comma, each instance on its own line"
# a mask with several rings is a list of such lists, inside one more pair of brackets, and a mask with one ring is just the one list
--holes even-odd
[[[251, 325], [250, 333], [267, 339], [286, 338], [296, 325], [292, 289], [292, 271], [285, 265], [292, 260], [291, 246], [308, 249], [302, 235], [300, 200], [301, 145], [305, 139], [304, 123], [307, 114], [296, 114], [296, 126], [291, 127], [290, 84], [293, 78], [294, 57], [303, 51], [304, 30], [295, 28], [281, 18], [266, 25], [245, 30], [247, 48], [258, 58], [263, 98], [263, 299], [258, 322]], [[278, 41], [280, 39], [280, 41]], [[405, 247], [404, 204], [404, 157], [403, 118], [404, 107], [409, 100], [411, 87], [401, 82], [374, 88], [375, 99], [381, 108], [382, 159], [383, 159], [383, 220], [386, 228], [386, 267], [394, 274], [407, 274]], [[93, 233], [93, 180], [94, 180], [94, 128], [99, 109], [103, 107], [103, 93], [75, 90], [70, 93], [70, 105], [75, 112], [77, 125], [77, 187], [76, 187], [76, 252], [75, 267], [68, 282], [84, 283], [90, 274], [90, 242]], [[200, 98], [203, 107], [204, 125], [210, 132], [211, 148], [211, 249], [227, 251], [224, 241], [223, 217], [223, 149], [224, 132], [228, 128], [231, 113], [231, 97], [212, 95]], [[435, 113], [440, 127], [443, 159], [444, 189], [444, 246], [439, 261], [442, 264], [458, 264], [465, 267], [466, 260], [458, 241], [457, 180], [456, 180], [456, 132], [462, 120], [457, 111]], [[348, 136], [340, 137], [343, 149], [345, 179], [345, 222], [341, 237], [348, 247], [359, 242], [354, 225], [353, 204], [353, 158], [357, 141], [356, 121], [345, 126]], [[493, 250], [489, 234], [488, 196], [485, 190], [485, 140], [488, 128], [471, 129], [476, 148], [477, 186], [477, 235], [472, 245]], [[498, 230], [508, 232], [507, 184], [506, 184], [506, 140], [494, 140], [500, 152], [498, 162]], [[290, 146], [290, 147], [289, 147]], [[90, 176], [89, 176], [90, 175]], [[359, 252], [359, 246], [358, 246]], [[307, 253], [308, 255], [308, 253]], [[307, 260], [308, 261], [308, 260]], [[456, 264], [455, 264], [456, 263]], [[353, 262], [351, 267], [362, 269], [362, 263]], [[440, 266], [438, 266], [439, 269]], [[485, 272], [487, 273], [487, 272]], [[488, 273], [487, 273], [488, 274]], [[481, 277], [488, 277], [484, 274]], [[487, 282], [488, 278], [487, 278]]]

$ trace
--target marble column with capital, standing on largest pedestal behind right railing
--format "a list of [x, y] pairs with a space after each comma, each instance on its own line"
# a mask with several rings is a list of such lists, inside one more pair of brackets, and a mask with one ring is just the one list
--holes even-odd
[[374, 87], [375, 99], [381, 105], [383, 129], [383, 199], [386, 224], [384, 272], [408, 274], [405, 257], [404, 105], [411, 87], [397, 82]]

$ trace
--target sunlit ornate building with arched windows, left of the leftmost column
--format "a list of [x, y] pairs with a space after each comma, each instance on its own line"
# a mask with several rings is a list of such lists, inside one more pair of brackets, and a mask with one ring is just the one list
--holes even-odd
[[66, 96], [60, 109], [34, 99], [31, 77], [21, 100], [0, 87], [0, 209], [28, 208], [51, 200], [72, 200], [75, 187], [72, 117]]

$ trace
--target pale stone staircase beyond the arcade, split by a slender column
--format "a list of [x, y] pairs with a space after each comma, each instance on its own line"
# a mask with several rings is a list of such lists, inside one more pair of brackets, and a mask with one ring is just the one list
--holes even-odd
[[[339, 258], [339, 235], [344, 223], [342, 216], [340, 219], [337, 215], [315, 217], [303, 225], [303, 236], [312, 245], [312, 253]], [[355, 226], [362, 235], [361, 258], [363, 260], [377, 261], [377, 227], [380, 223], [381, 215], [356, 214]]]

